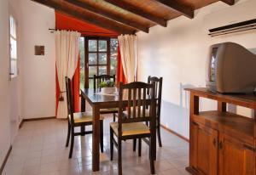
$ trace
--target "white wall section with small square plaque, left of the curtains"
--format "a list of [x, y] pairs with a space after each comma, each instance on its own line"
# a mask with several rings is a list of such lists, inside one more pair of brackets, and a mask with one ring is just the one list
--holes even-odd
[[[23, 65], [22, 116], [55, 116], [55, 11], [30, 0], [22, 0], [21, 40]], [[45, 55], [35, 56], [34, 46], [44, 45]]]

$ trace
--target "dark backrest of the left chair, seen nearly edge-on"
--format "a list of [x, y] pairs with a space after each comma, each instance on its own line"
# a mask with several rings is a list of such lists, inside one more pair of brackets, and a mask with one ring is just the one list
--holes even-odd
[[65, 82], [66, 82], [66, 94], [67, 94], [67, 115], [71, 117], [71, 121], [73, 122], [73, 95], [72, 95], [70, 78], [66, 76]]

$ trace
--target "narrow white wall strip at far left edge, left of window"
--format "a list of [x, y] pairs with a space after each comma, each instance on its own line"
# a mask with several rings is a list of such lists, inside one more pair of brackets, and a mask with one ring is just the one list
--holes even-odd
[[0, 165], [10, 146], [8, 0], [0, 0]]

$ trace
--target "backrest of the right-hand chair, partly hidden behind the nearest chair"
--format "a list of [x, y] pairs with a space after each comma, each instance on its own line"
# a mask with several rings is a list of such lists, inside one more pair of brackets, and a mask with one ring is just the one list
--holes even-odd
[[[160, 117], [160, 111], [161, 111], [161, 99], [162, 99], [162, 83], [163, 83], [163, 77], [156, 77], [156, 76], [148, 76], [148, 83], [154, 84], [154, 94], [157, 98], [157, 111], [156, 116]], [[148, 91], [148, 94], [151, 93]]]

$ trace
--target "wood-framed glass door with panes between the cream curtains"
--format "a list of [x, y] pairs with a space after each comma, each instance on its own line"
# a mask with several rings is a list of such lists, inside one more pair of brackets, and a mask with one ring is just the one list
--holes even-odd
[[93, 88], [94, 75], [116, 75], [118, 39], [80, 37], [80, 88]]

